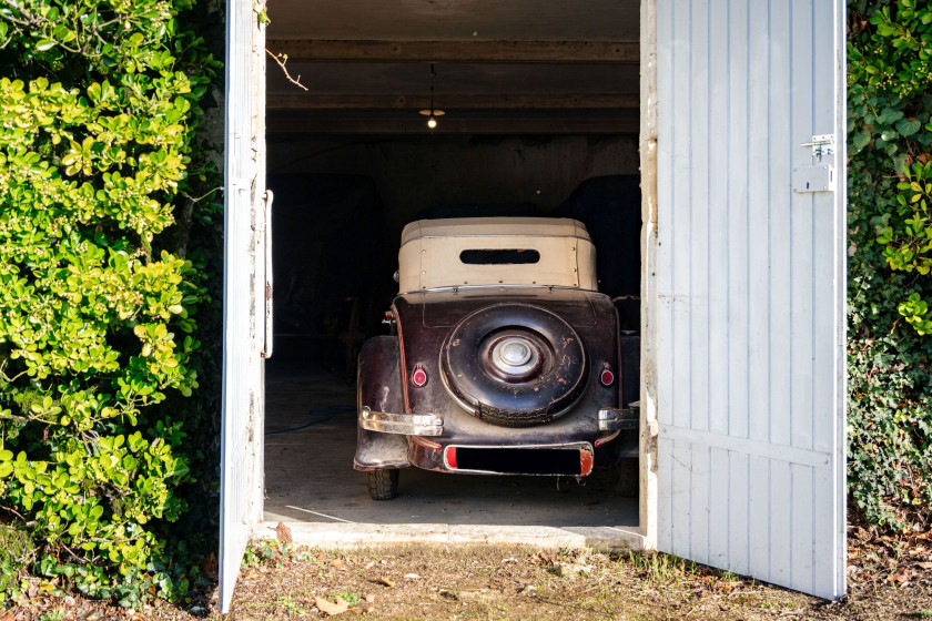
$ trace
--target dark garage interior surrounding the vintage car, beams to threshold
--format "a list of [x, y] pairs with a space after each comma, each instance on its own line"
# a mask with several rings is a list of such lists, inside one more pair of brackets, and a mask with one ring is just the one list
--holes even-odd
[[639, 329], [639, 1], [270, 0], [267, 13], [265, 526], [287, 522], [297, 541], [323, 546], [376, 533], [626, 541], [639, 521], [637, 478], [631, 492], [618, 464], [636, 444], [616, 447], [585, 486], [408, 468], [398, 498], [383, 502], [352, 460], [355, 357], [387, 334], [408, 222], [580, 220], [621, 329]]

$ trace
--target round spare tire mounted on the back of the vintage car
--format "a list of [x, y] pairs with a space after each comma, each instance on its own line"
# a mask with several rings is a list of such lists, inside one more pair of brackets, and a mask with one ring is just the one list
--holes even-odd
[[450, 332], [444, 384], [472, 415], [503, 427], [559, 418], [586, 388], [588, 360], [576, 330], [529, 304], [480, 308]]

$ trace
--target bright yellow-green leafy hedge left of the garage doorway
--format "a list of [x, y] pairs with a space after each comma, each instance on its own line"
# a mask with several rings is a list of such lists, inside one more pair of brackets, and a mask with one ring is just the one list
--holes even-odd
[[0, 513], [41, 542], [20, 560], [49, 589], [124, 603], [196, 574], [166, 539], [207, 458], [185, 438], [211, 427], [184, 398], [213, 373], [216, 324], [216, 266], [192, 251], [220, 184], [196, 133], [219, 67], [196, 14], [0, 4]]

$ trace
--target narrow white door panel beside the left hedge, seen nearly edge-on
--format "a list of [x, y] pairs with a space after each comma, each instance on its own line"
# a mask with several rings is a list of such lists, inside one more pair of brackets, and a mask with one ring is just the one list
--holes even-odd
[[[240, 563], [262, 516], [265, 262], [265, 29], [254, 4], [226, 3], [223, 397], [220, 604], [226, 613]], [[260, 275], [260, 277], [256, 277]]]

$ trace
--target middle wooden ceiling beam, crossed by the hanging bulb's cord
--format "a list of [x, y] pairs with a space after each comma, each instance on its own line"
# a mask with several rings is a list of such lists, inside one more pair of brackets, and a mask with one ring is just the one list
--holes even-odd
[[[640, 106], [638, 93], [619, 94], [443, 94], [435, 96], [443, 110], [618, 110]], [[267, 110], [422, 110], [427, 95], [361, 95], [270, 93]]]

